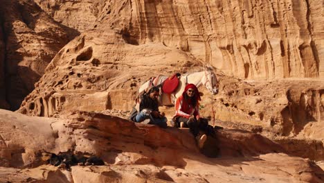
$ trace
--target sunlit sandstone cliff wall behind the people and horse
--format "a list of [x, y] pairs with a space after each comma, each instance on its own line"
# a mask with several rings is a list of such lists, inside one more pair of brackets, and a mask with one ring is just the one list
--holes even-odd
[[[206, 89], [200, 88], [205, 94], [204, 116], [271, 139], [310, 138], [316, 141], [311, 151], [323, 152], [323, 7], [319, 3], [37, 3], [82, 34], [55, 55], [19, 112], [58, 116], [77, 109], [129, 111], [138, 87], [151, 76], [201, 71], [203, 62], [215, 67], [220, 91], [210, 100]], [[76, 5], [84, 9], [69, 11]], [[80, 21], [71, 21], [81, 12]], [[89, 29], [84, 30], [84, 25]], [[173, 111], [166, 110], [171, 117]], [[313, 158], [323, 159], [323, 154]]]

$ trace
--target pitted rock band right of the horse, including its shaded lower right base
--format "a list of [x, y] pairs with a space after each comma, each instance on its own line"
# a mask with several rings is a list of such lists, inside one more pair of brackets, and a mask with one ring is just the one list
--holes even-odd
[[201, 102], [201, 113], [216, 119], [210, 124], [258, 132], [294, 155], [324, 158], [323, 80], [218, 78], [220, 94]]

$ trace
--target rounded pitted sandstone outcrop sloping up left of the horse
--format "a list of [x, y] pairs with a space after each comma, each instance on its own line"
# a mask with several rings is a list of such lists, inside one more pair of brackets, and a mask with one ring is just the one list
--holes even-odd
[[150, 77], [202, 69], [199, 60], [183, 51], [159, 43], [134, 46], [122, 37], [113, 30], [82, 33], [48, 64], [19, 111], [53, 116], [77, 109], [130, 110], [138, 87]]

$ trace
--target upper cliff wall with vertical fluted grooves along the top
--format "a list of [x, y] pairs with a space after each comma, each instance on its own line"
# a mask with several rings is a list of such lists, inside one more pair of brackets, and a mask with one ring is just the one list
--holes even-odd
[[323, 0], [37, 3], [66, 26], [118, 28], [129, 44], [177, 47], [231, 76], [324, 78]]

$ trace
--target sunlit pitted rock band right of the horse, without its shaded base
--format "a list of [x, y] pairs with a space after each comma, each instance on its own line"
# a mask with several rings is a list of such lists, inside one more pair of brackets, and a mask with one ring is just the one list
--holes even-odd
[[[303, 79], [262, 82], [224, 77], [219, 80], [221, 94], [206, 105], [215, 105], [215, 118], [221, 121], [249, 121], [250, 125], [271, 127], [278, 135], [295, 136], [307, 130], [306, 126], [310, 131], [313, 124], [324, 120], [322, 80], [312, 80], [312, 84]], [[313, 137], [323, 139], [318, 134]]]

